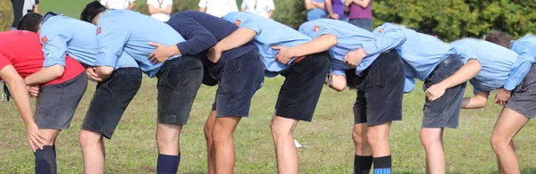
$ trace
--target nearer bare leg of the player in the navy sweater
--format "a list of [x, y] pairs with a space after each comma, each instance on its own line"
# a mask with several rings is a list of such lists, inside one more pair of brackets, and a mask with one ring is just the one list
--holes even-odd
[[216, 173], [231, 174], [235, 164], [235, 148], [232, 134], [242, 117], [216, 118], [213, 129]]

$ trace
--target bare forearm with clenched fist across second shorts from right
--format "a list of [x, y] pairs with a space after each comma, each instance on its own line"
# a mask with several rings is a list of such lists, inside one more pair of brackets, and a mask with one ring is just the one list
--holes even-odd
[[473, 79], [478, 74], [478, 72], [480, 72], [480, 70], [482, 70], [480, 62], [471, 59], [467, 61], [467, 63], [465, 63], [465, 65], [462, 66], [460, 69], [456, 70], [456, 72], [452, 76], [441, 81], [440, 84], [445, 88], [456, 87], [459, 84], [465, 83], [466, 81]]

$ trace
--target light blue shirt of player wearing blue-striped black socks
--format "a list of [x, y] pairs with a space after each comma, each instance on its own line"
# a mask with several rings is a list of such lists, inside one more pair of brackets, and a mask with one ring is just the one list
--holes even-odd
[[[364, 45], [373, 45], [375, 36], [372, 32], [358, 28], [345, 21], [321, 19], [307, 21], [299, 27], [299, 32], [311, 38], [320, 37], [325, 34], [332, 34], [337, 37], [337, 46], [328, 50], [331, 55], [331, 73], [334, 75], [345, 75], [345, 70], [350, 67], [344, 63], [344, 57], [348, 52], [361, 48]], [[361, 75], [378, 58], [381, 52], [368, 54], [361, 63], [357, 65], [356, 74]]]

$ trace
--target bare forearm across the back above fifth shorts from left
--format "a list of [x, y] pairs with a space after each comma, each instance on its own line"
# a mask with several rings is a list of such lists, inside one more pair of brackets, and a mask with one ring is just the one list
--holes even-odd
[[305, 44], [290, 47], [289, 53], [293, 57], [317, 54], [327, 51], [333, 46], [337, 46], [337, 43], [338, 41], [335, 35], [326, 34], [320, 37], [316, 37]]

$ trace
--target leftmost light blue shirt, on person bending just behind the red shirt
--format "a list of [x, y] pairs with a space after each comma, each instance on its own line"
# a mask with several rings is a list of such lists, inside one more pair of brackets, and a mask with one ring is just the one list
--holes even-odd
[[[71, 55], [74, 60], [86, 66], [95, 66], [96, 26], [63, 15], [45, 19], [41, 24], [39, 36], [45, 54], [43, 67], [55, 64], [65, 66], [65, 54]], [[130, 55], [121, 52], [113, 67], [138, 67], [138, 63]]]

